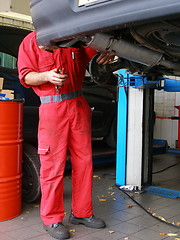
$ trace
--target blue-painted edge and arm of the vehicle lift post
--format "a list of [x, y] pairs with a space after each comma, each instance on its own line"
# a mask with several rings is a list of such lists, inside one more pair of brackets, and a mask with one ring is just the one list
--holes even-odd
[[162, 77], [152, 80], [147, 77], [129, 74], [126, 69], [119, 70], [118, 73], [116, 184], [122, 186], [126, 185], [128, 88], [153, 88], [178, 92], [180, 91], [180, 81]]

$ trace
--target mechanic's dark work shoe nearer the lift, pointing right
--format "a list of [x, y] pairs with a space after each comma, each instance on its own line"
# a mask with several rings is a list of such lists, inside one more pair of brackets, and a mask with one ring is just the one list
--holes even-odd
[[72, 213], [69, 217], [69, 222], [75, 225], [83, 224], [86, 227], [90, 228], [104, 228], [106, 226], [105, 222], [95, 216], [87, 218], [77, 218]]

